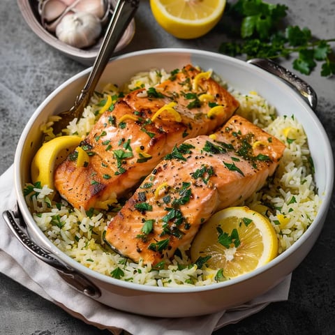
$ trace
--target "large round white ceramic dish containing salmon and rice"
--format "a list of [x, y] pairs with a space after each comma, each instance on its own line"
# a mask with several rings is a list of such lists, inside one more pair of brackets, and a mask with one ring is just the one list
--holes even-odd
[[242, 93], [257, 91], [267, 98], [269, 103], [276, 106], [278, 114], [295, 114], [303, 124], [308, 137], [315, 164], [315, 182], [322, 204], [315, 221], [287, 251], [278, 255], [264, 267], [215, 285], [191, 288], [147, 287], [119, 281], [80, 265], [59, 251], [40, 232], [24, 202], [22, 188], [24, 183], [29, 181], [31, 159], [40, 146], [41, 134], [38, 131], [40, 125], [47, 120], [50, 114], [57, 114], [72, 105], [89, 73], [89, 69], [84, 70], [48, 96], [24, 128], [15, 155], [15, 189], [18, 204], [31, 237], [38, 244], [50, 250], [54, 257], [96, 285], [101, 290], [101, 296], [96, 297], [98, 301], [124, 311], [161, 317], [203, 315], [231, 308], [261, 295], [283, 281], [285, 276], [290, 274], [306, 257], [320, 234], [332, 196], [334, 163], [324, 128], [311, 107], [296, 91], [265, 70], [244, 61], [211, 52], [157, 49], [126, 54], [113, 59], [103, 73], [100, 85], [102, 87], [107, 82], [121, 84], [131, 75], [142, 70], [151, 68], [173, 70], [188, 63], [205, 69], [212, 68]]

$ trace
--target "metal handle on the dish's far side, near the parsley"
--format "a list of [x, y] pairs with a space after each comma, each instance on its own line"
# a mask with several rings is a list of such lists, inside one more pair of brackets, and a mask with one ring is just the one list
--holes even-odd
[[285, 80], [291, 87], [296, 89], [299, 94], [307, 101], [307, 103], [311, 106], [312, 110], [316, 110], [316, 105], [318, 104], [318, 98], [314, 89], [308, 85], [304, 80], [297, 77], [294, 73], [290, 72], [287, 68], [271, 61], [270, 59], [262, 59], [262, 58], [255, 58], [249, 59], [247, 61], [249, 64], [253, 64], [266, 70], [277, 77], [280, 77], [282, 80]]

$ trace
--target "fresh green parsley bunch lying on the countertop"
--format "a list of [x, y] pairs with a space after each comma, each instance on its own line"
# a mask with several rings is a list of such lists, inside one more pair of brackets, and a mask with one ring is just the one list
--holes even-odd
[[297, 54], [293, 68], [309, 75], [317, 62], [322, 62], [321, 75], [335, 75], [335, 54], [331, 43], [335, 38], [320, 40], [313, 38], [311, 30], [285, 25], [288, 6], [272, 4], [262, 0], [238, 0], [228, 3], [224, 19], [237, 24], [229, 24], [230, 36], [236, 35], [237, 42], [225, 42], [219, 52], [230, 56], [246, 55], [251, 58], [288, 58]]

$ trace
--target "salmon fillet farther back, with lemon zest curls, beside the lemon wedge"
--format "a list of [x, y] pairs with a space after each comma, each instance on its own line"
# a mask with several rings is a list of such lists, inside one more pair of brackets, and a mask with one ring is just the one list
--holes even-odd
[[175, 144], [211, 133], [239, 103], [218, 82], [192, 65], [150, 89], [137, 89], [102, 114], [75, 155], [57, 167], [54, 185], [73, 207], [102, 208], [147, 176]]

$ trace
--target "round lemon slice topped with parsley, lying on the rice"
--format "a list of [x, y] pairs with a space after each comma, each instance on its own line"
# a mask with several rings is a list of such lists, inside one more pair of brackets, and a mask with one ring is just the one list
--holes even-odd
[[191, 259], [207, 258], [212, 269], [234, 278], [267, 264], [278, 253], [278, 239], [265, 216], [248, 207], [218, 211], [204, 223], [191, 246]]

